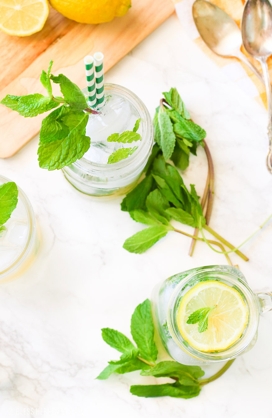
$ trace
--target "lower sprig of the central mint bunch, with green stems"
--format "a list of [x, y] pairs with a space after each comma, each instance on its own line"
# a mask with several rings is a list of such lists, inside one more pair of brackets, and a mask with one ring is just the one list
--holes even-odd
[[[124, 242], [123, 248], [129, 252], [142, 253], [169, 231], [175, 231], [205, 241], [209, 246], [218, 245], [225, 252], [222, 242], [244, 260], [248, 260], [242, 252], [206, 225], [194, 185], [190, 185], [190, 191], [186, 188], [176, 167], [166, 163], [157, 145], [154, 145], [149, 165], [146, 166], [145, 178], [126, 195], [121, 203], [121, 209], [129, 212], [134, 221], [149, 225]], [[193, 237], [174, 228], [170, 223], [172, 219], [181, 224], [198, 227], [202, 238]], [[207, 240], [203, 229], [213, 234], [219, 242]]]

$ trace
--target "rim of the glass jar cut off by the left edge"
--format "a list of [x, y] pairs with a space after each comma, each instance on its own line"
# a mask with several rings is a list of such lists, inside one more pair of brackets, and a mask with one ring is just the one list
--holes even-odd
[[[3, 182], [1, 183], [1, 181]], [[5, 176], [0, 176], [0, 184], [8, 183], [9, 181], [13, 181], [13, 180], [10, 180], [8, 177], [5, 177]], [[28, 217], [28, 237], [27, 237], [27, 240], [25, 241], [25, 245], [23, 246], [16, 260], [14, 260], [10, 265], [8, 265], [8, 267], [5, 267], [3, 270], [0, 270], [0, 280], [2, 280], [6, 275], [12, 273], [13, 270], [18, 268], [18, 266], [21, 263], [23, 263], [35, 239], [36, 225], [35, 225], [35, 214], [33, 211], [33, 207], [31, 206], [31, 203], [28, 197], [23, 192], [23, 190], [20, 187], [18, 187], [17, 183], [16, 183], [16, 186], [18, 188], [18, 199], [20, 199], [20, 201], [23, 203], [27, 217]]]

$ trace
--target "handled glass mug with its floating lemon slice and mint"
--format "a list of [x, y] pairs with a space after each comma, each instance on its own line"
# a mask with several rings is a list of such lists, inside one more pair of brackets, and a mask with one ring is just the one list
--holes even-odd
[[177, 362], [205, 365], [247, 352], [257, 340], [259, 315], [272, 293], [255, 294], [229, 265], [194, 268], [171, 276], [152, 294], [156, 329]]

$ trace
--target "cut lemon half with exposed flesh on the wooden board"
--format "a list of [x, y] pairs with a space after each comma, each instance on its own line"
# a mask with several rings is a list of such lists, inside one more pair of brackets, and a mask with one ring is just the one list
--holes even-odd
[[43, 28], [47, 0], [0, 0], [0, 29], [8, 35], [28, 36]]

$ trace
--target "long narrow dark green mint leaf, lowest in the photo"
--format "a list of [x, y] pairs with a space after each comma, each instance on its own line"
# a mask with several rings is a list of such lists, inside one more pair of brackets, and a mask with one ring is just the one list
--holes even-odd
[[130, 388], [132, 395], [145, 398], [158, 396], [172, 396], [174, 398], [194, 398], [200, 393], [200, 386], [183, 386], [178, 382], [165, 383], [164, 385], [133, 385]]

